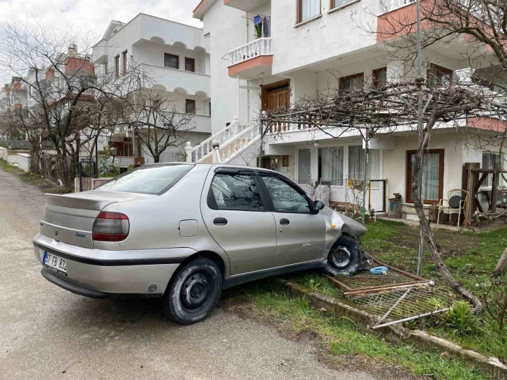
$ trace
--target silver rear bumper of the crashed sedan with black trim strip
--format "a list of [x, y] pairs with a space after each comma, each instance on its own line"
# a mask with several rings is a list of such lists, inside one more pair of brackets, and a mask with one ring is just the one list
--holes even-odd
[[189, 248], [87, 249], [38, 234], [34, 238], [34, 253], [39, 263], [45, 251], [66, 259], [67, 276], [43, 268], [43, 277], [72, 293], [91, 298], [162, 295], [179, 264], [196, 253]]

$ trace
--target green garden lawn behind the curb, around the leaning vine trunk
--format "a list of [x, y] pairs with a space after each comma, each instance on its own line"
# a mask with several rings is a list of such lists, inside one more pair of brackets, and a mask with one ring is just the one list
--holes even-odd
[[[441, 245], [443, 259], [458, 282], [480, 296], [478, 284], [489, 281], [489, 275], [501, 253], [507, 247], [507, 228], [483, 233], [448, 231], [436, 229], [435, 240]], [[377, 221], [368, 224], [368, 233], [362, 237], [362, 247], [389, 265], [416, 272], [418, 252], [418, 228], [396, 221]], [[423, 259], [423, 277], [443, 283], [429, 251]], [[299, 284], [314, 288], [326, 295], [339, 297], [337, 288], [317, 273], [296, 275], [291, 279]], [[313, 281], [312, 281], [313, 280]], [[312, 287], [314, 286], [314, 287]], [[478, 329], [471, 335], [458, 336], [446, 323], [427, 326], [426, 321], [412, 327], [426, 328], [430, 333], [460, 342], [463, 346], [483, 353], [507, 359], [507, 337], [500, 334], [489, 315], [483, 314], [476, 320]], [[417, 325], [417, 326], [416, 326]]]

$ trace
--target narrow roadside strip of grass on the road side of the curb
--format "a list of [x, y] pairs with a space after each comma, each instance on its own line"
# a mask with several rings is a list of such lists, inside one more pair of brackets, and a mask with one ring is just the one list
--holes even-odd
[[[318, 275], [305, 276], [307, 282], [317, 279], [318, 284], [323, 279]], [[328, 286], [326, 282], [323, 281], [322, 286]], [[323, 290], [318, 284], [318, 290]], [[362, 369], [390, 379], [397, 377], [397, 373], [400, 378], [411, 374], [428, 379], [487, 379], [483, 372], [469, 363], [416, 351], [410, 346], [393, 346], [379, 337], [361, 333], [349, 319], [337, 319], [311, 308], [307, 298], [291, 297], [281, 284], [273, 280], [230, 289], [224, 292], [222, 299], [240, 314], [258, 317], [277, 326], [288, 337], [315, 337], [328, 357], [324, 361], [330, 361], [331, 365], [341, 369]]]

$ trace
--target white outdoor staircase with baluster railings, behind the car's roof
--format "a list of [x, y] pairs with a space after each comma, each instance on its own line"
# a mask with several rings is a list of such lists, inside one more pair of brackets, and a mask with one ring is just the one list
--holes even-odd
[[258, 122], [240, 123], [237, 117], [229, 126], [207, 138], [196, 147], [186, 143], [186, 162], [235, 163], [245, 165], [257, 156], [260, 147]]

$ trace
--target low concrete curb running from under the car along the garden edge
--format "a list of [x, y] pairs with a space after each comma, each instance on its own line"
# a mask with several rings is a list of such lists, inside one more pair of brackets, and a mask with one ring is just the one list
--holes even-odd
[[276, 279], [277, 282], [286, 286], [291, 295], [306, 295], [311, 305], [318, 309], [324, 308], [334, 316], [354, 321], [360, 331], [383, 337], [392, 344], [410, 344], [420, 351], [442, 353], [446, 351], [451, 358], [467, 360], [477, 365], [483, 372], [495, 380], [507, 379], [507, 366], [498, 358], [485, 356], [482, 353], [465, 349], [460, 344], [441, 337], [435, 337], [422, 330], [408, 330], [402, 326], [388, 326], [372, 330], [375, 317], [372, 314], [356, 309], [351, 305], [340, 302], [336, 298], [329, 297], [317, 291], [312, 291], [306, 286], [295, 284], [286, 279]]

